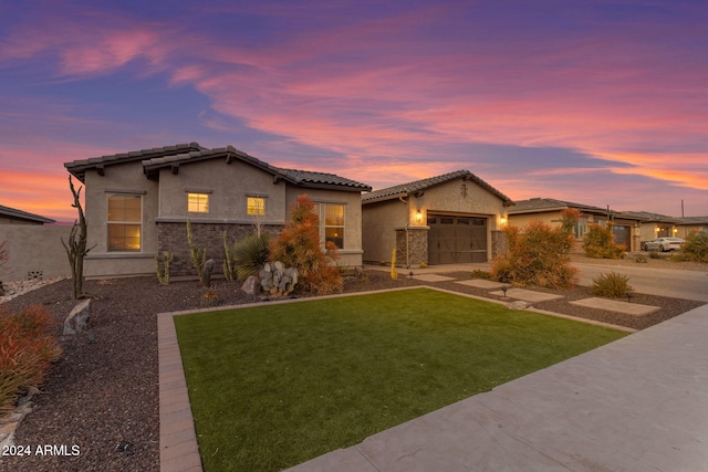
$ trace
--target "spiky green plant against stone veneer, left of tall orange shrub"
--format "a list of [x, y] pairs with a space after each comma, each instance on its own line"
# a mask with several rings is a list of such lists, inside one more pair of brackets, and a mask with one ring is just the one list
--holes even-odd
[[257, 275], [258, 271], [268, 262], [270, 250], [270, 234], [266, 232], [248, 234], [228, 245], [226, 231], [223, 233], [223, 274], [226, 279], [240, 281], [250, 275]]

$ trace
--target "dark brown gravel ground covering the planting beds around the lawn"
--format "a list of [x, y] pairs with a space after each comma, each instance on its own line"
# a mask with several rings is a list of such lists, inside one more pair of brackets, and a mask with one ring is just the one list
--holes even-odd
[[[642, 265], [652, 266], [654, 263], [676, 265], [670, 261], [659, 260], [650, 260], [648, 264]], [[704, 264], [697, 270], [705, 271], [705, 268]], [[685, 269], [684, 263], [680, 269]], [[465, 272], [445, 275], [458, 280], [470, 279], [469, 273]], [[404, 277], [403, 274], [399, 280], [392, 281], [386, 272], [366, 271], [362, 277], [348, 280], [345, 292], [423, 284], [420, 281]], [[487, 290], [454, 282], [425, 285], [493, 297]], [[218, 281], [211, 290], [218, 294], [220, 305], [252, 302], [252, 297], [242, 293], [239, 286], [238, 283]], [[61, 338], [64, 353], [42, 386], [42, 394], [33, 398], [33, 411], [20, 424], [14, 436], [17, 445], [30, 445], [32, 451], [38, 445], [66, 444], [70, 453], [72, 445], [77, 445], [80, 453], [6, 457], [0, 462], [3, 470], [159, 470], [156, 314], [202, 307], [205, 290], [194, 280], [176, 281], [170, 285], [160, 286], [156, 277], [87, 281], [84, 289], [94, 300], [91, 336], [84, 333]], [[702, 304], [636, 294], [633, 303], [655, 305], [660, 310], [644, 317], [634, 317], [582, 308], [568, 303], [592, 296], [586, 287], [548, 292], [563, 294], [564, 298], [537, 303], [534, 307], [637, 329], [660, 323]], [[62, 323], [75, 304], [71, 300], [71, 281], [62, 280], [17, 296], [3, 303], [2, 308], [14, 312], [37, 303], [45, 305], [58, 322]], [[61, 334], [59, 324], [56, 332]]]

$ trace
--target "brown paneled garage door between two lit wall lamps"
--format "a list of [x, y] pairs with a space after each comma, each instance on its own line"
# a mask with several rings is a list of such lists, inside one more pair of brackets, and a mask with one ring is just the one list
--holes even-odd
[[428, 262], [487, 262], [487, 218], [428, 214]]

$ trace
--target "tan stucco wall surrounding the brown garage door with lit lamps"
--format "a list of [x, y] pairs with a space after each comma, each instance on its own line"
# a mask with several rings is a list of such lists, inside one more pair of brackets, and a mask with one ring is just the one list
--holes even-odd
[[[465, 185], [465, 195], [462, 193]], [[459, 214], [487, 217], [487, 254], [492, 254], [492, 231], [501, 228], [501, 219], [508, 208], [503, 200], [471, 180], [462, 178], [448, 181], [425, 190], [418, 197], [405, 197], [407, 204], [399, 199], [363, 206], [364, 260], [379, 262], [391, 260], [392, 249], [396, 247], [396, 228], [426, 227], [427, 214]], [[420, 211], [419, 221], [417, 219]]]

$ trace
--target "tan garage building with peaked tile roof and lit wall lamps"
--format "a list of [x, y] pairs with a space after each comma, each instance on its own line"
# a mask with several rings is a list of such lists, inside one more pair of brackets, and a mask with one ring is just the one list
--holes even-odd
[[364, 260], [405, 266], [487, 262], [513, 202], [469, 170], [362, 197]]

